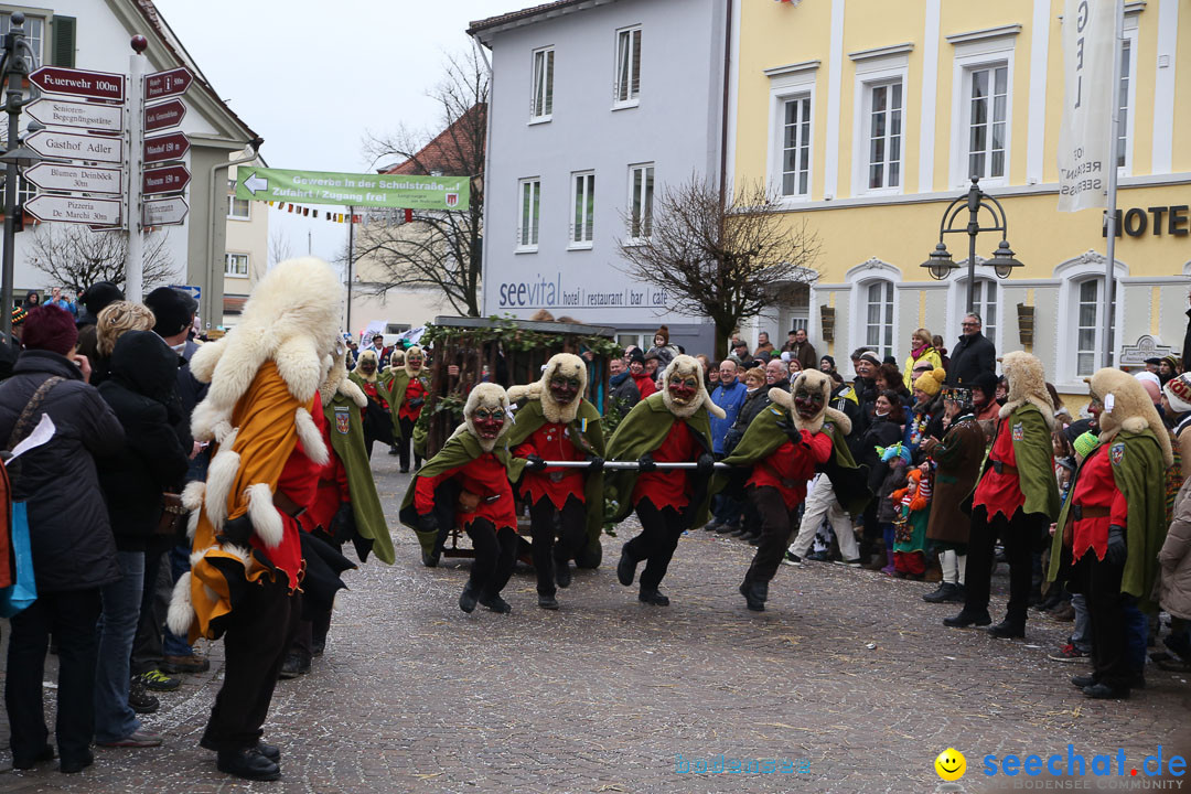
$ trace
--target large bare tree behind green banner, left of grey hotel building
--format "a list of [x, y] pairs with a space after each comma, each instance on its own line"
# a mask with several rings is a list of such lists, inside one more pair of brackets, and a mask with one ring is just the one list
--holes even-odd
[[374, 163], [395, 161], [397, 165], [387, 169], [391, 173], [469, 176], [470, 204], [459, 212], [369, 213], [369, 223], [355, 242], [354, 260], [373, 263], [373, 292], [434, 289], [460, 314], [479, 317], [487, 68], [475, 52], [450, 57], [445, 75], [430, 95], [439, 105], [439, 132], [403, 127], [392, 136], [369, 135], [364, 150]]

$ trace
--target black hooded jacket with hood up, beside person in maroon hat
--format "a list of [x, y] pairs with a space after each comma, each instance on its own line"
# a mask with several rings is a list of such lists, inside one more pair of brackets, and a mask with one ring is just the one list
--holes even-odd
[[99, 394], [124, 427], [125, 445], [99, 458], [99, 484], [120, 551], [143, 551], [157, 529], [162, 492], [186, 477], [182, 449], [167, 402], [177, 382], [177, 354], [152, 331], [129, 331], [116, 343]]

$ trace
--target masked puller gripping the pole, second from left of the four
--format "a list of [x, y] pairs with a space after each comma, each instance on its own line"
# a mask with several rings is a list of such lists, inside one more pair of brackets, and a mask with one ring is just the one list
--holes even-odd
[[[543, 609], [559, 608], [555, 583], [570, 586], [570, 559], [584, 559], [604, 526], [604, 432], [596, 406], [584, 399], [586, 390], [587, 365], [568, 352], [551, 357], [537, 383], [509, 389], [518, 406], [509, 446], [526, 461], [520, 494], [530, 509], [537, 605]], [[587, 461], [590, 467], [544, 471], [544, 461]]]

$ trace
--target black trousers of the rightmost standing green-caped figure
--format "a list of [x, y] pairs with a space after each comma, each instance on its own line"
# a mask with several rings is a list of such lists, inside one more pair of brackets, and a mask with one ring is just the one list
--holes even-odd
[[1121, 592], [1124, 565], [1097, 559], [1086, 551], [1072, 570], [1083, 586], [1092, 623], [1092, 677], [1114, 689], [1128, 689], [1134, 670], [1129, 664], [1125, 605], [1133, 596]]

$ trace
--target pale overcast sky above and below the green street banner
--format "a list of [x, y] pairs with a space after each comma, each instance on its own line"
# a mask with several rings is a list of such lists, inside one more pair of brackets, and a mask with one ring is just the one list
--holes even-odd
[[[468, 23], [540, 2], [155, 0], [216, 92], [264, 138], [269, 165], [323, 171], [368, 170], [367, 132], [436, 127], [426, 92], [448, 54], [472, 48]], [[270, 237], [278, 229], [294, 255], [311, 232], [312, 252], [330, 260], [348, 227], [270, 210]]]

